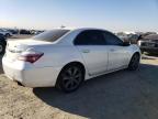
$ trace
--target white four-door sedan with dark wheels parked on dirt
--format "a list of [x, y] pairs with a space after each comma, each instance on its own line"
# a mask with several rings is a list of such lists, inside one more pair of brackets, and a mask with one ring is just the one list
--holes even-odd
[[29, 40], [9, 41], [5, 75], [27, 87], [57, 86], [66, 93], [92, 77], [139, 66], [137, 45], [100, 29], [52, 30]]

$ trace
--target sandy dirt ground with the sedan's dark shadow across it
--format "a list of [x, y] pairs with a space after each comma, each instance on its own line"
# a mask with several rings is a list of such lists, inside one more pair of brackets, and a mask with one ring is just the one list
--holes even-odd
[[1, 66], [0, 73], [0, 119], [158, 119], [158, 58], [90, 79], [72, 94], [22, 87]]

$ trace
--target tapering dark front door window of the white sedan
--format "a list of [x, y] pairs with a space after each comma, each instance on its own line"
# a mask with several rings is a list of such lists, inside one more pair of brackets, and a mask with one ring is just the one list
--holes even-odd
[[106, 45], [123, 45], [123, 41], [110, 32], [103, 32]]

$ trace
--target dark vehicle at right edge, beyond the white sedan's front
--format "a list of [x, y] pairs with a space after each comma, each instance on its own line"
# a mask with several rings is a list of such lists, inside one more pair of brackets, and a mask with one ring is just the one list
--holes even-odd
[[158, 34], [147, 35], [138, 41], [142, 52], [158, 54]]

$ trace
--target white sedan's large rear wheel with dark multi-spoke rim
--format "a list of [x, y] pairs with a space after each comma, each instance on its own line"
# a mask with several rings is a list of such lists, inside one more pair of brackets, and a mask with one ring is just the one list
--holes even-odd
[[65, 93], [77, 90], [84, 80], [84, 72], [80, 65], [70, 64], [64, 67], [57, 79], [57, 87]]

